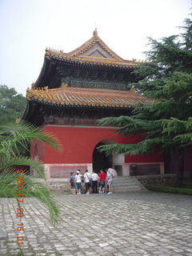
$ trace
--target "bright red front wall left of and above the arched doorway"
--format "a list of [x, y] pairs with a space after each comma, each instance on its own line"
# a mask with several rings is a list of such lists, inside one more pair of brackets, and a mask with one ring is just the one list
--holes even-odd
[[46, 163], [87, 163], [92, 162], [94, 147], [98, 142], [109, 139], [123, 142], [122, 135], [115, 135], [115, 129], [75, 126], [45, 126], [62, 144], [62, 151], [55, 154], [49, 146], [45, 147]]

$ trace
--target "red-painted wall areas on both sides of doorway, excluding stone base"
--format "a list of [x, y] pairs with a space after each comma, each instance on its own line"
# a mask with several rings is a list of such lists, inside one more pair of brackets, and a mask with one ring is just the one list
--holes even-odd
[[[119, 143], [136, 143], [141, 140], [139, 136], [131, 138], [124, 137], [122, 134], [114, 134], [116, 129], [110, 128], [86, 128], [86, 127], [64, 127], [64, 126], [45, 126], [44, 130], [51, 132], [59, 139], [63, 148], [62, 152], [57, 152], [50, 146], [42, 145], [38, 142], [38, 152], [44, 152], [44, 157], [40, 160], [45, 163], [90, 163], [94, 147], [103, 140], [112, 140]], [[33, 155], [33, 150], [31, 151]], [[141, 155], [126, 156], [126, 162], [162, 162], [162, 155]]]

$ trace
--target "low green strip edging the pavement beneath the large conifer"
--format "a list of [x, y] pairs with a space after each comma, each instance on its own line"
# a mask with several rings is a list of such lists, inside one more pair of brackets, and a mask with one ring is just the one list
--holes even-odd
[[192, 195], [192, 189], [186, 189], [182, 187], [168, 187], [168, 186], [146, 186], [147, 190], [166, 192], [166, 193], [177, 193], [177, 194], [190, 194]]

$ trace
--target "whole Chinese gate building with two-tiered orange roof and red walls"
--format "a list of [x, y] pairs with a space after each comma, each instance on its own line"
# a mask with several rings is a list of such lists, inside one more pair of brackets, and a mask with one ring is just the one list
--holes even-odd
[[62, 152], [42, 142], [33, 142], [31, 157], [44, 162], [46, 178], [68, 178], [70, 171], [112, 167], [119, 176], [163, 174], [161, 154], [106, 157], [97, 147], [114, 142], [137, 143], [138, 135], [114, 134], [117, 127], [98, 126], [105, 117], [130, 115], [138, 102], [149, 104], [141, 94], [130, 90], [137, 82], [131, 72], [138, 62], [115, 54], [98, 37], [76, 50], [46, 50], [37, 81], [26, 92], [27, 107], [22, 119], [42, 126], [58, 137]]

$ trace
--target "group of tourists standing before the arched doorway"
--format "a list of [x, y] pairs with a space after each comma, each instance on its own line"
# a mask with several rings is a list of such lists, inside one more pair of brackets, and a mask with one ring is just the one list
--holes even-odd
[[90, 174], [86, 170], [85, 174], [81, 174], [81, 170], [77, 170], [77, 173], [70, 173], [70, 188], [71, 194], [82, 194], [82, 179], [85, 182], [85, 194], [103, 194], [105, 193], [105, 187], [107, 186], [107, 194], [113, 193], [113, 180], [114, 174], [111, 170], [100, 170], [97, 174], [94, 170]]

